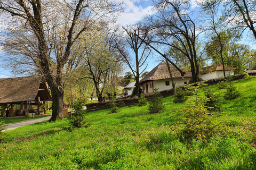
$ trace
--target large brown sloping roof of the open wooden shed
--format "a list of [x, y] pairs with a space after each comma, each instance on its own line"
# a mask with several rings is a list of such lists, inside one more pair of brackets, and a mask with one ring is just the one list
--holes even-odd
[[51, 95], [41, 76], [0, 79], [0, 104], [20, 103], [22, 101], [51, 100]]

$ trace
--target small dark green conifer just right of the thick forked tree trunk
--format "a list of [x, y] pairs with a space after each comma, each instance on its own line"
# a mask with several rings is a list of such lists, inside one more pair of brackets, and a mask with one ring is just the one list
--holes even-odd
[[88, 126], [85, 122], [86, 110], [83, 109], [84, 105], [84, 101], [77, 101], [73, 104], [75, 111], [71, 113], [71, 117], [68, 117], [70, 129]]

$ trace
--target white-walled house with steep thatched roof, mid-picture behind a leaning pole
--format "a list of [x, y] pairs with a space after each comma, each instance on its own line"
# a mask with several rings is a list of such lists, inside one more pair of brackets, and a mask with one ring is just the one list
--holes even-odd
[[[185, 75], [182, 77], [180, 72], [172, 64], [169, 65], [175, 85], [182, 86], [188, 84], [192, 77], [191, 72], [180, 69], [185, 72]], [[151, 70], [140, 80], [140, 85], [142, 86], [143, 94], [154, 92], [154, 89], [158, 89], [158, 91], [172, 89], [171, 77], [166, 62], [161, 62]]]

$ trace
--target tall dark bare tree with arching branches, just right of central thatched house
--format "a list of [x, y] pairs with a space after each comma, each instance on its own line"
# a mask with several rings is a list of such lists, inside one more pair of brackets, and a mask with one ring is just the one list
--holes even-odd
[[[158, 13], [148, 18], [154, 43], [167, 45], [185, 55], [190, 63], [193, 82], [199, 78], [200, 56], [197, 51], [198, 31], [190, 1], [153, 0]], [[177, 46], [178, 45], [178, 46]]]

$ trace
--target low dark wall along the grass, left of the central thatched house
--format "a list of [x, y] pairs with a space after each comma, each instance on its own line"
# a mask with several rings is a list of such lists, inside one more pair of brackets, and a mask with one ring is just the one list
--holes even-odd
[[[127, 99], [117, 99], [113, 101], [117, 104], [117, 107], [134, 106], [134, 105], [138, 105], [139, 103], [138, 97], [127, 98]], [[86, 109], [87, 111], [90, 112], [90, 111], [99, 111], [102, 109], [111, 108], [111, 106], [109, 106], [108, 104], [113, 101], [89, 103], [89, 104], [86, 104]]]

